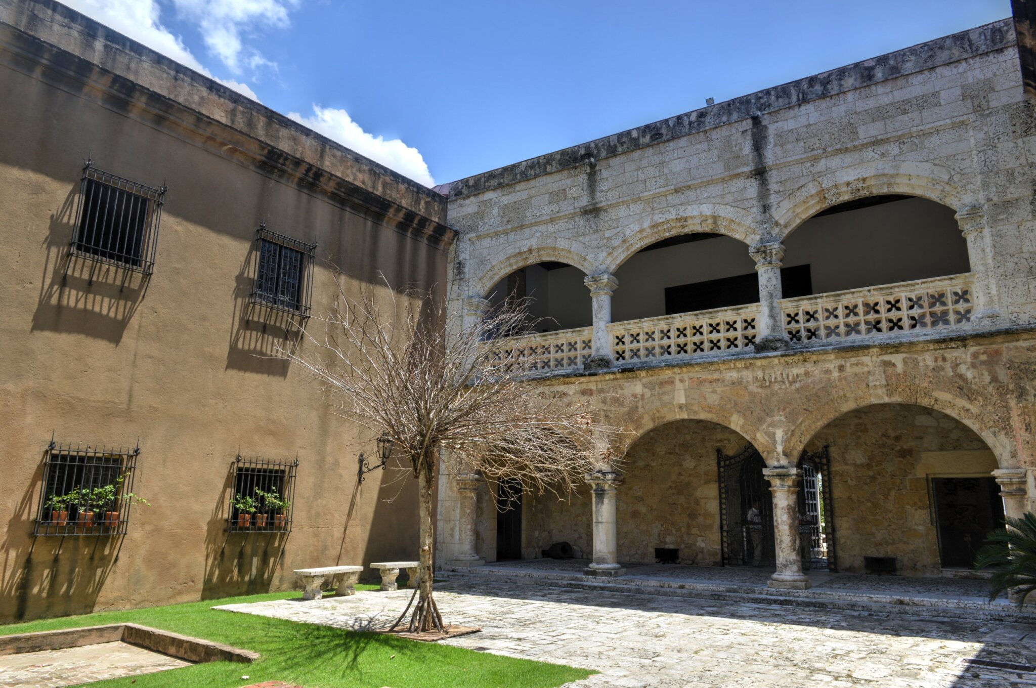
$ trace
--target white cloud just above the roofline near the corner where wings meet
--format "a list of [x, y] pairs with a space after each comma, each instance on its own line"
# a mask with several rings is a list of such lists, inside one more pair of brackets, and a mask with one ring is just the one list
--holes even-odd
[[435, 185], [435, 180], [428, 171], [428, 164], [416, 148], [411, 148], [399, 139], [385, 141], [383, 137], [368, 134], [352, 121], [345, 110], [314, 105], [312, 117], [303, 117], [297, 112], [289, 112], [288, 117], [414, 181], [426, 187]]

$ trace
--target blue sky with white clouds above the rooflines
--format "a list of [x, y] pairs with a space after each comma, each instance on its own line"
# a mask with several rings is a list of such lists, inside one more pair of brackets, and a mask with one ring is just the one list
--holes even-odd
[[426, 184], [1010, 15], [1009, 0], [66, 2]]

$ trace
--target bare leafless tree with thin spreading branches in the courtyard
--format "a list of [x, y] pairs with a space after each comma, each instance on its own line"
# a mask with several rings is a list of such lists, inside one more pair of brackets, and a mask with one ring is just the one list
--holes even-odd
[[337, 284], [332, 311], [306, 324], [303, 346], [282, 354], [319, 380], [336, 412], [386, 433], [409, 461], [419, 485], [421, 543], [420, 598], [409, 631], [444, 631], [432, 598], [432, 490], [440, 455], [447, 453], [458, 472], [514, 478], [533, 493], [565, 497], [587, 474], [613, 463], [617, 429], [584, 403], [529, 383], [542, 373], [525, 347], [487, 355], [494, 336], [534, 331], [524, 302], [509, 299], [465, 324], [448, 318], [442, 299], [430, 291], [365, 288], [353, 298], [341, 278]]

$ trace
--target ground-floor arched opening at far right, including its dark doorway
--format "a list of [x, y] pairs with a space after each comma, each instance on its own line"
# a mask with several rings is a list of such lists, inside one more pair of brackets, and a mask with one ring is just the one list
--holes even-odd
[[827, 448], [837, 570], [941, 575], [970, 569], [1002, 524], [990, 472], [997, 459], [978, 434], [924, 406], [875, 404], [822, 428], [807, 453]]

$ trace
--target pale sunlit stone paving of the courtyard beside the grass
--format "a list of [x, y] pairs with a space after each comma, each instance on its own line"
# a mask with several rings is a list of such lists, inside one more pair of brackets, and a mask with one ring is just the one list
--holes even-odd
[[[409, 595], [218, 608], [363, 630], [391, 623]], [[578, 686], [1036, 686], [1033, 672], [967, 663], [1036, 664], [1036, 628], [1024, 625], [467, 581], [436, 600], [449, 623], [483, 628], [444, 642], [601, 672]]]

